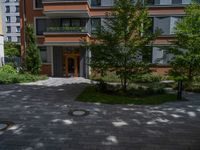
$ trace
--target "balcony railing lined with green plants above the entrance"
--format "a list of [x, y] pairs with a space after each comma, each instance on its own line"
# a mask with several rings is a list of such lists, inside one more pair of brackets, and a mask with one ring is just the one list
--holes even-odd
[[86, 27], [48, 27], [47, 32], [85, 33]]

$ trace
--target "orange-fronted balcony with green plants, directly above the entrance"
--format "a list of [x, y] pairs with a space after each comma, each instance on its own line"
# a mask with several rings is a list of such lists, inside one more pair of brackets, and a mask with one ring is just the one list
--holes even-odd
[[90, 37], [88, 19], [52, 19], [44, 32], [47, 45], [81, 45]]

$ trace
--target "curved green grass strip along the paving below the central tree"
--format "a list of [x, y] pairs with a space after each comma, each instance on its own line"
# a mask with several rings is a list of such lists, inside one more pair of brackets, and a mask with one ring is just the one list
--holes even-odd
[[125, 96], [109, 95], [97, 92], [94, 87], [87, 87], [78, 97], [77, 101], [94, 102], [104, 104], [136, 104], [157, 105], [165, 102], [177, 101], [176, 94], [160, 94], [142, 98], [131, 98]]

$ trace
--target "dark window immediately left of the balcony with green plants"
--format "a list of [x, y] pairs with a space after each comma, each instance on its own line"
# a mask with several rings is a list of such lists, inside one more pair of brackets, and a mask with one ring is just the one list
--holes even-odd
[[43, 35], [46, 32], [46, 19], [36, 19], [36, 34]]

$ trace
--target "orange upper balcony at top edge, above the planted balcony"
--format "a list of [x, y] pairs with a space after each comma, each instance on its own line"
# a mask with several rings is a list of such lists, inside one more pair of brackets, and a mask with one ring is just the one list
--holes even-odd
[[88, 0], [43, 0], [47, 16], [89, 17]]

